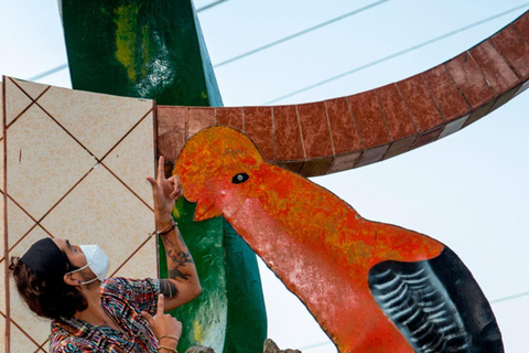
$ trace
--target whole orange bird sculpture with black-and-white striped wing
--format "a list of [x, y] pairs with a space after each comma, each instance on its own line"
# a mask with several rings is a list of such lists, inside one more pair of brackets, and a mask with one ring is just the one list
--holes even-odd
[[324, 188], [267, 163], [245, 135], [199, 131], [174, 173], [196, 202], [194, 221], [224, 216], [339, 352], [503, 352], [488, 301], [445, 245], [363, 218]]

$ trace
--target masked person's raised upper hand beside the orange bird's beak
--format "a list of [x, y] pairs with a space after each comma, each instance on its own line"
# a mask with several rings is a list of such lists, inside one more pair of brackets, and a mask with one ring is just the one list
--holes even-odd
[[158, 161], [156, 179], [147, 176], [147, 180], [152, 186], [154, 218], [160, 223], [170, 222], [174, 202], [184, 194], [179, 175], [173, 175], [169, 179], [165, 179], [163, 173], [163, 157], [160, 157], [160, 160]]

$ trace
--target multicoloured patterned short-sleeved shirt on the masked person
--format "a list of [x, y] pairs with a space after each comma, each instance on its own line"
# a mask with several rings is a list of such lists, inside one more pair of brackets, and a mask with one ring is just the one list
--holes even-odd
[[52, 320], [51, 352], [155, 353], [158, 341], [140, 312], [156, 313], [160, 280], [108, 278], [100, 291], [104, 309], [122, 332], [75, 318]]

